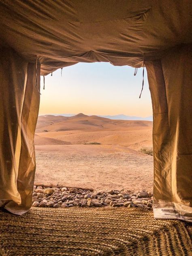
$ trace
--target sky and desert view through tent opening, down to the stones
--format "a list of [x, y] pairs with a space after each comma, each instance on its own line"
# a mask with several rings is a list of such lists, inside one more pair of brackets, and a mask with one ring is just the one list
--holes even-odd
[[[79, 63], [45, 77], [35, 183], [151, 191], [152, 108], [143, 68]], [[147, 154], [145, 154], [147, 153]]]

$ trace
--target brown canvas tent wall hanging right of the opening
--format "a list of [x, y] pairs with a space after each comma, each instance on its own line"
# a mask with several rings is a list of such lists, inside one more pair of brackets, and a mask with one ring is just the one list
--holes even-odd
[[154, 117], [154, 217], [192, 221], [192, 46], [145, 66]]

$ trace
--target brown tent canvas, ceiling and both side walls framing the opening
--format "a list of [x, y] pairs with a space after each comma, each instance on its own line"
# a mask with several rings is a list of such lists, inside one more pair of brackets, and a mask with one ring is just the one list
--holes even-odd
[[[0, 205], [28, 211], [40, 74], [78, 62], [146, 66], [154, 216], [192, 221], [191, 1], [0, 2]], [[38, 89], [38, 90], [37, 90]]]

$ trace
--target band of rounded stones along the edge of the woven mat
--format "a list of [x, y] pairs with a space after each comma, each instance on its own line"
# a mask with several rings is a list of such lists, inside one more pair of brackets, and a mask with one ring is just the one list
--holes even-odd
[[152, 193], [127, 190], [90, 191], [77, 188], [34, 186], [33, 207], [139, 207], [151, 210]]

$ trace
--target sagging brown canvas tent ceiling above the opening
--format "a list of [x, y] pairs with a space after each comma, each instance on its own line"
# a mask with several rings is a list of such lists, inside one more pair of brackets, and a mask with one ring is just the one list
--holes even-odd
[[141, 67], [191, 42], [189, 0], [3, 0], [0, 45], [41, 75], [78, 62]]

